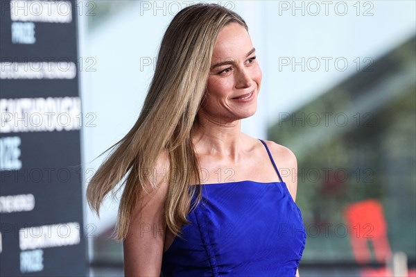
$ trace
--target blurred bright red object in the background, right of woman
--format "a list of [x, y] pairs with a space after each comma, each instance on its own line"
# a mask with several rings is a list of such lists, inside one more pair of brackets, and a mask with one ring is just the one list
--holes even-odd
[[368, 199], [347, 205], [344, 216], [350, 230], [348, 233], [356, 262], [358, 264], [370, 262], [371, 253], [368, 242], [372, 242], [376, 260], [385, 265], [392, 253], [387, 237], [383, 207], [379, 201]]

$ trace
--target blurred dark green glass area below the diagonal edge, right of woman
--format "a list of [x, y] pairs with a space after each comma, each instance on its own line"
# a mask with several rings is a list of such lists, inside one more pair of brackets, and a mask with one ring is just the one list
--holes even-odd
[[[415, 47], [413, 37], [311, 103], [281, 112], [269, 129], [270, 140], [297, 156], [296, 202], [308, 235], [303, 265], [380, 263], [377, 255], [389, 248], [414, 263]], [[368, 218], [350, 226], [347, 207], [368, 199], [381, 204], [381, 215], [363, 205], [354, 217]], [[354, 255], [357, 237], [367, 240], [370, 259], [359, 257], [364, 249]]]

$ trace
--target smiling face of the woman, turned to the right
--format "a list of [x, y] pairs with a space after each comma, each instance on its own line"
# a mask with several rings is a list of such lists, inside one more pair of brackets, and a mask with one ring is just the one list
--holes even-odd
[[200, 108], [205, 117], [228, 123], [254, 115], [261, 85], [261, 69], [255, 56], [250, 35], [243, 26], [233, 22], [220, 31], [206, 98]]

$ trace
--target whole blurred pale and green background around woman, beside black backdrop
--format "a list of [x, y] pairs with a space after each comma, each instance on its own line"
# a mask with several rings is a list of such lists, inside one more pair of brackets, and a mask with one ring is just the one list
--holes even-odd
[[[197, 2], [76, 2], [90, 276], [122, 276], [123, 248], [118, 198], [96, 217], [88, 180], [137, 120], [171, 19]], [[245, 19], [263, 72], [243, 133], [297, 156], [300, 276], [416, 276], [416, 2], [205, 2]]]

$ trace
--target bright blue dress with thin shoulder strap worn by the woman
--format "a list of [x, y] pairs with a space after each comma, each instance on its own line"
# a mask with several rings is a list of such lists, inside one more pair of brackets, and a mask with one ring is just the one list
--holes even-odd
[[176, 236], [163, 254], [164, 277], [295, 276], [306, 243], [302, 212], [260, 141], [281, 182], [201, 185], [185, 240]]

